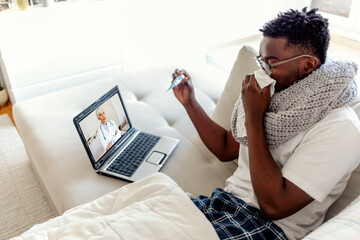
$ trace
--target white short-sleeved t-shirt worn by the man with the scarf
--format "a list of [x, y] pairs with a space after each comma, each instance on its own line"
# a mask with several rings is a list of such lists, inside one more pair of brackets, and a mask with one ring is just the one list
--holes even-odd
[[[360, 122], [350, 107], [332, 110], [309, 130], [270, 150], [283, 176], [314, 201], [295, 214], [274, 221], [289, 239], [300, 239], [322, 224], [360, 162]], [[259, 208], [252, 188], [247, 146], [239, 150], [239, 167], [225, 190]]]

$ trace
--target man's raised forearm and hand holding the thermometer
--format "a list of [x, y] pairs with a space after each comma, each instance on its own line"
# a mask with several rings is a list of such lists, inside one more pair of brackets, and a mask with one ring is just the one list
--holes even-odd
[[[239, 143], [230, 130], [227, 131], [218, 125], [205, 113], [195, 98], [189, 74], [186, 71], [181, 73], [185, 75], [185, 79], [174, 88], [174, 94], [184, 106], [201, 140], [220, 161], [236, 159], [239, 154]], [[179, 71], [175, 70], [173, 79], [178, 75]]]

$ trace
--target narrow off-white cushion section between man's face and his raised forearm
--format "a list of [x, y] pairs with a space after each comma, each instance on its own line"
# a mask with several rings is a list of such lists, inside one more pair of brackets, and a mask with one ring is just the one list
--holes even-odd
[[259, 68], [254, 60], [256, 55], [256, 50], [250, 46], [244, 45], [240, 49], [224, 91], [216, 104], [211, 118], [225, 129], [230, 129], [231, 113], [239, 98], [242, 80]]

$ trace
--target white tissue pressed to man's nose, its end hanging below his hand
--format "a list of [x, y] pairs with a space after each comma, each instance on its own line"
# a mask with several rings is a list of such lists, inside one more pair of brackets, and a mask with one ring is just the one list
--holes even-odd
[[[270, 96], [274, 95], [276, 81], [272, 79], [263, 69], [256, 70], [254, 72], [254, 75], [257, 83], [259, 84], [259, 87], [263, 89], [264, 87], [270, 85]], [[236, 128], [237, 128], [238, 137], [247, 136], [246, 128], [245, 128], [245, 112], [244, 112], [244, 106], [242, 105], [242, 101], [239, 102]]]

